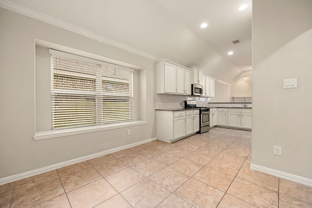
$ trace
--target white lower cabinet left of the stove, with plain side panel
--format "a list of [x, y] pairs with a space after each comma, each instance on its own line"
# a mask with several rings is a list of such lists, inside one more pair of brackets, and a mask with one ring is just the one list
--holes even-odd
[[156, 137], [172, 143], [199, 131], [199, 110], [156, 110]]

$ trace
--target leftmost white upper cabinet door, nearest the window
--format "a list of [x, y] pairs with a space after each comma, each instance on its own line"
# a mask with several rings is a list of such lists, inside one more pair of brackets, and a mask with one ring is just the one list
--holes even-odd
[[176, 94], [176, 66], [165, 63], [165, 93]]

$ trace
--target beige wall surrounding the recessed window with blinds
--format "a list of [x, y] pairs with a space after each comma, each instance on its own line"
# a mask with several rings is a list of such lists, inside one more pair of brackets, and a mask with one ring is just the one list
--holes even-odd
[[[1, 7], [0, 28], [0, 178], [156, 136], [154, 60]], [[35, 113], [49, 114], [35, 106], [35, 83], [46, 80], [36, 72], [35, 38], [140, 66], [137, 111], [147, 125], [127, 128], [131, 129], [129, 136], [123, 128], [35, 141]], [[50, 102], [49, 95], [44, 99]], [[37, 128], [44, 127], [38, 124]]]

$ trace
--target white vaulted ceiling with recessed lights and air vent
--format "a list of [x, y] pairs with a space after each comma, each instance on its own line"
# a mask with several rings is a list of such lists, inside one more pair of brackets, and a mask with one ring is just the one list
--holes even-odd
[[252, 80], [251, 0], [5, 1], [230, 84]]

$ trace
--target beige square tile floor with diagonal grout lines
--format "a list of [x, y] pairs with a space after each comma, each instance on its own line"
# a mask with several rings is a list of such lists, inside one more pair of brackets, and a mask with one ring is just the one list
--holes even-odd
[[312, 187], [251, 170], [251, 132], [153, 141], [0, 186], [0, 208], [312, 208]]

